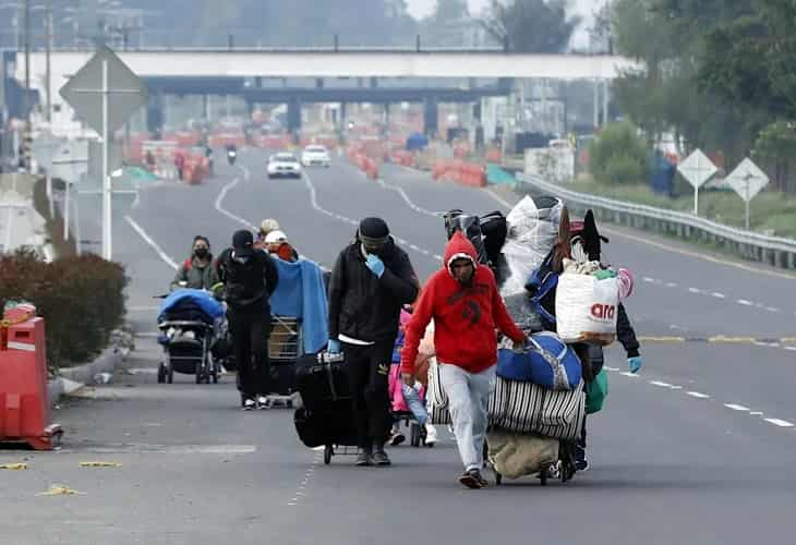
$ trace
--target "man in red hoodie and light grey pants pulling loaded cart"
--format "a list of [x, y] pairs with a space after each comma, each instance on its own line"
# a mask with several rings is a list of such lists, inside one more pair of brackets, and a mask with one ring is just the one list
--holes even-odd
[[495, 385], [496, 329], [516, 343], [524, 334], [515, 325], [497, 291], [492, 270], [479, 265], [472, 243], [456, 232], [445, 249], [442, 270], [431, 277], [407, 326], [401, 374], [414, 384], [414, 361], [425, 328], [434, 319], [434, 347], [448, 396], [448, 410], [469, 488], [486, 486], [481, 475], [489, 424], [487, 405]]

